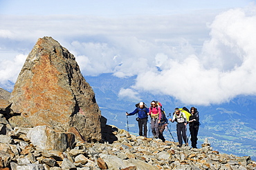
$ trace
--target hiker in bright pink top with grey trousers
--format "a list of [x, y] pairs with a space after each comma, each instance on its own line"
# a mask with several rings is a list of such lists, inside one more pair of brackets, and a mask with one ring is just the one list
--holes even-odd
[[156, 101], [151, 102], [149, 107], [149, 116], [151, 117], [151, 129], [153, 138], [159, 137], [159, 123], [161, 123], [161, 108], [156, 105]]

